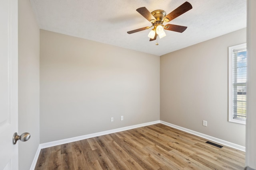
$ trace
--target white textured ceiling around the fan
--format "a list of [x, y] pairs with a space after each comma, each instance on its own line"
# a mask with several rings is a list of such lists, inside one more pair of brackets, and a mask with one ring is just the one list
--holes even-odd
[[186, 0], [30, 0], [39, 27], [92, 41], [154, 55], [164, 55], [246, 27], [246, 0], [188, 0], [192, 10], [168, 22], [187, 26], [183, 33], [149, 41], [150, 30], [127, 31], [151, 26], [136, 9], [172, 12]]

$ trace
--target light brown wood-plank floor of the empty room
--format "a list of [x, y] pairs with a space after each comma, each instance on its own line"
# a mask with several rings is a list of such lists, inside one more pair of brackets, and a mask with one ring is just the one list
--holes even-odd
[[155, 124], [42, 149], [36, 170], [244, 169], [245, 152]]

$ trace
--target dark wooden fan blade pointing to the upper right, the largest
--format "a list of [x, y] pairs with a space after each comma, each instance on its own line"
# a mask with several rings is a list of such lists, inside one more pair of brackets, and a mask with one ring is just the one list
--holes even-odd
[[182, 4], [181, 6], [173, 10], [170, 14], [165, 16], [164, 22], [169, 22], [191, 9], [192, 9], [192, 5], [189, 2], [184, 2], [184, 4]]

